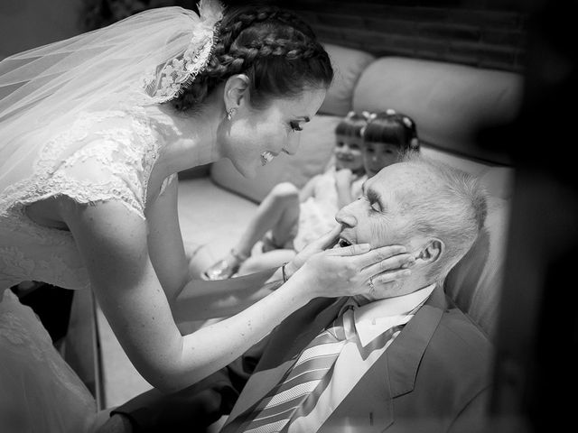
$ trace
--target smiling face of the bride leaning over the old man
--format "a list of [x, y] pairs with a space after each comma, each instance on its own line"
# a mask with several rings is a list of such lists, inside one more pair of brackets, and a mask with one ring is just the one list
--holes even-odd
[[293, 155], [301, 131], [322, 105], [324, 89], [306, 90], [299, 97], [275, 98], [263, 108], [244, 104], [232, 115], [219, 139], [221, 155], [245, 177], [280, 153]]

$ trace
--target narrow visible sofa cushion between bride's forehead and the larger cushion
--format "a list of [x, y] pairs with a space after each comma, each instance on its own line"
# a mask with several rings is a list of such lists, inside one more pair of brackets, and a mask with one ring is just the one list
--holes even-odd
[[359, 76], [375, 57], [365, 51], [330, 43], [324, 47], [331, 59], [335, 76], [319, 112], [326, 115], [347, 115], [353, 107], [353, 90]]

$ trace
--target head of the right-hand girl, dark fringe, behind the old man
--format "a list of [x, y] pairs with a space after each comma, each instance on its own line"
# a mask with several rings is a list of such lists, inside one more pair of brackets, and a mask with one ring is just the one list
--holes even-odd
[[368, 178], [399, 161], [406, 152], [419, 152], [415, 122], [407, 115], [388, 109], [368, 116], [363, 130], [363, 164]]

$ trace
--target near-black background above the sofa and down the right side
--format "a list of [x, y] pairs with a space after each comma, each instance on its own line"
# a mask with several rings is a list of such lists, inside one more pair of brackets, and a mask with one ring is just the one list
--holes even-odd
[[[230, 0], [227, 5], [246, 2]], [[573, 148], [575, 0], [311, 0], [253, 2], [300, 13], [322, 41], [374, 53], [524, 74], [522, 110], [480, 131], [480, 146], [516, 167], [496, 386], [488, 431], [573, 428], [578, 389], [578, 181]], [[83, 30], [145, 8], [193, 1], [87, 0]], [[568, 427], [566, 427], [568, 426]]]

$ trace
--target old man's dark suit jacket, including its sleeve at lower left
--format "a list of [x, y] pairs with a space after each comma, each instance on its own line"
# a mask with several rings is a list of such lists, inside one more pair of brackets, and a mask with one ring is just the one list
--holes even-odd
[[[236, 401], [248, 407], [273, 388], [346, 300], [331, 306], [335, 299], [314, 299], [228, 367], [168, 396], [145, 392], [113, 413], [131, 419], [135, 433], [204, 432]], [[436, 288], [320, 433], [482, 431], [492, 360], [488, 339]], [[281, 364], [266, 381], [247, 383], [254, 371], [271, 373]]]

